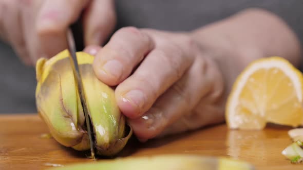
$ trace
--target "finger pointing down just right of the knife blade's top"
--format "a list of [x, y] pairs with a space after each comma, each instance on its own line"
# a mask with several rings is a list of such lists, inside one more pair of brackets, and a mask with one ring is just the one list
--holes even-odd
[[102, 45], [116, 25], [112, 0], [93, 0], [83, 17], [85, 45]]

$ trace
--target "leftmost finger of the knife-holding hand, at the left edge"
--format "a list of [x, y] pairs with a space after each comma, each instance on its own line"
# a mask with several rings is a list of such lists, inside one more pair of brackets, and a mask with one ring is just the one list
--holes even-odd
[[[26, 64], [31, 65], [31, 60], [25, 46], [21, 13], [16, 1], [3, 1], [0, 9], [0, 31], [10, 42], [17, 56]], [[5, 17], [10, 16], [10, 17]]]

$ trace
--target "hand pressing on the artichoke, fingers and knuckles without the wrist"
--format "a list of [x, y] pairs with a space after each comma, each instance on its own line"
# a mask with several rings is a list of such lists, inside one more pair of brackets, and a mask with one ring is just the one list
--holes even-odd
[[122, 28], [93, 69], [118, 85], [119, 108], [141, 141], [224, 120], [221, 73], [190, 34]]

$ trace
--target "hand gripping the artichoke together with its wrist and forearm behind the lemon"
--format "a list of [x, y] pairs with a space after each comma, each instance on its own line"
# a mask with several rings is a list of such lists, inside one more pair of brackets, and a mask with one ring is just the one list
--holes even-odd
[[268, 56], [298, 65], [299, 41], [276, 15], [248, 9], [190, 33], [122, 28], [97, 53], [93, 69], [118, 85], [119, 108], [145, 141], [223, 122], [237, 75]]

